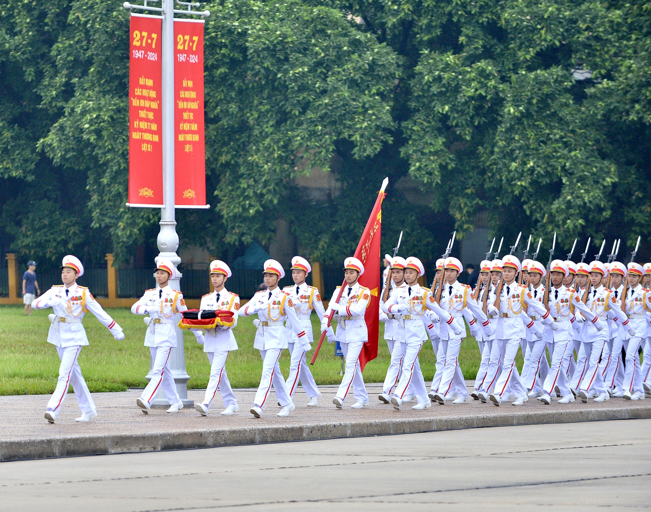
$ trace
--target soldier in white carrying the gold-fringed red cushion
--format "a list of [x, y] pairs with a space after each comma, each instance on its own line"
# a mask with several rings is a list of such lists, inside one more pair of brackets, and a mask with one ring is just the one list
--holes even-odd
[[202, 336], [197, 337], [199, 344], [203, 344], [204, 352], [210, 361], [210, 379], [208, 379], [204, 400], [201, 403], [195, 403], [195, 409], [202, 416], [208, 415], [210, 404], [219, 389], [221, 399], [226, 405], [226, 409], [221, 411], [221, 414], [230, 416], [240, 410], [238, 399], [233, 394], [229, 376], [226, 373], [226, 359], [229, 357], [229, 353], [238, 350], [238, 342], [235, 340], [232, 329], [238, 325], [240, 296], [226, 289], [226, 280], [232, 275], [232, 272], [225, 262], [216, 259], [210, 262], [209, 270], [210, 281], [212, 281], [215, 290], [202, 296], [199, 310], [232, 311], [233, 325], [217, 325], [212, 329], [206, 329]]

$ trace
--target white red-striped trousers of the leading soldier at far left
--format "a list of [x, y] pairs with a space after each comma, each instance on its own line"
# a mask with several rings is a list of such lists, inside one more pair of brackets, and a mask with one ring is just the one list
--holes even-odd
[[94, 411], [95, 402], [92, 401], [86, 381], [81, 375], [81, 368], [77, 363], [79, 353], [81, 353], [81, 345], [57, 347], [57, 353], [59, 353], [59, 359], [61, 359], [59, 379], [57, 380], [57, 387], [48, 400], [48, 410], [54, 411], [55, 415], [59, 414], [61, 405], [63, 405], [66, 394], [68, 394], [68, 386], [72, 385], [81, 412], [90, 413], [90, 411]]

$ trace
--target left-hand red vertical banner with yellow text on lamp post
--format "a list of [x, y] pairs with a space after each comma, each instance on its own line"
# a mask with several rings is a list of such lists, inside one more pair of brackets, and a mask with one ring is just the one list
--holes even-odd
[[161, 18], [132, 14], [129, 55], [129, 203], [163, 204]]

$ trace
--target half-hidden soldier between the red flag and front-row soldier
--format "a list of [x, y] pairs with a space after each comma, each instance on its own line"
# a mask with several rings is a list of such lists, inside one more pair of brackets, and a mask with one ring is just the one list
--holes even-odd
[[[385, 259], [390, 258], [389, 255]], [[407, 288], [405, 283], [405, 266], [407, 262], [404, 258], [396, 256], [391, 258], [391, 287], [390, 294], [398, 293], [402, 288]], [[385, 281], [386, 282], [386, 281]], [[396, 344], [400, 345], [404, 343], [404, 329], [400, 326], [400, 314], [396, 313], [386, 313], [384, 311], [384, 292], [380, 297], [380, 321], [385, 322], [384, 324], [384, 339], [387, 340], [387, 347], [389, 348], [389, 353], [391, 354], [391, 362], [389, 363], [389, 368], [387, 368], [387, 375], [384, 379], [384, 385], [382, 387], [382, 392], [378, 395], [378, 400], [383, 403], [391, 403], [391, 394], [395, 390], [396, 385], [398, 385], [398, 379], [402, 373], [402, 360], [404, 359], [404, 353], [402, 350], [396, 349]], [[389, 298], [387, 301], [391, 300]]]

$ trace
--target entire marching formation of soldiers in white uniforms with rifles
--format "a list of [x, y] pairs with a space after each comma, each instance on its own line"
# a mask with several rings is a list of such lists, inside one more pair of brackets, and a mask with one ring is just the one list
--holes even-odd
[[[495, 253], [491, 246], [481, 263], [477, 285], [471, 288], [458, 281], [463, 265], [449, 256], [453, 242], [454, 237], [445, 255], [436, 262], [431, 288], [421, 284], [425, 270], [418, 258], [399, 257], [397, 248], [393, 257], [385, 257], [388, 268], [380, 295], [380, 321], [385, 324], [391, 363], [378, 396], [381, 403], [399, 411], [414, 399], [412, 409], [432, 407], [432, 403], [463, 404], [473, 399], [497, 406], [509, 401], [522, 405], [529, 398], [549, 404], [554, 394], [559, 397], [558, 403], [576, 399], [603, 402], [611, 397], [643, 400], [651, 396], [651, 263], [643, 266], [635, 262], [637, 247], [631, 262], [624, 265], [616, 261], [616, 242], [604, 263], [600, 261], [604, 241], [594, 261], [586, 263], [588, 240], [581, 261], [575, 263], [574, 248], [567, 259], [553, 259], [554, 237], [549, 262], [543, 265], [537, 261], [540, 242], [533, 258], [527, 257], [531, 237], [523, 261], [514, 255], [518, 236], [510, 254], [504, 257], [499, 257], [501, 243]], [[195, 405], [199, 414], [210, 413], [217, 389], [225, 405], [221, 414], [238, 413], [240, 407], [230, 386], [226, 362], [229, 353], [238, 350], [233, 329], [239, 316], [253, 315], [257, 315], [253, 320], [253, 346], [260, 351], [262, 371], [249, 409], [251, 415], [259, 418], [264, 414], [273, 387], [280, 407], [277, 416], [288, 416], [296, 409], [294, 396], [299, 383], [309, 399], [307, 407], [316, 407], [321, 394], [306, 360], [312, 350], [312, 312], [322, 319], [322, 339], [339, 342], [346, 360], [333, 405], [341, 409], [352, 389], [354, 402], [350, 407], [368, 407], [360, 354], [369, 341], [365, 314], [377, 290], [372, 292], [359, 284], [363, 263], [355, 257], [346, 258], [344, 287], [337, 287], [327, 307], [318, 289], [305, 281], [312, 270], [310, 263], [296, 256], [290, 270], [294, 285], [281, 289], [283, 266], [273, 259], [266, 261], [266, 289], [240, 307], [238, 295], [226, 288], [232, 276], [229, 266], [215, 260], [209, 268], [214, 292], [202, 297], [199, 310], [188, 311], [182, 293], [169, 285], [176, 275], [173, 262], [158, 259], [157, 287], [146, 290], [132, 306], [133, 314], [147, 315], [145, 346], [153, 361], [151, 379], [137, 399], [141, 411], [150, 413], [159, 392], [171, 404], [168, 413], [183, 408], [169, 368], [178, 325], [194, 333], [210, 362], [204, 399]], [[81, 275], [81, 261], [72, 255], [64, 257], [62, 285], [53, 286], [32, 303], [33, 309], [53, 309], [48, 342], [57, 347], [61, 359], [57, 387], [45, 413], [50, 423], [61, 411], [68, 385], [72, 385], [81, 409], [76, 421], [87, 422], [97, 416], [77, 363], [82, 346], [89, 344], [82, 324], [84, 314], [90, 311], [116, 340], [124, 339], [122, 328], [89, 290], [77, 285]], [[336, 330], [331, 327], [331, 319], [337, 322]], [[481, 354], [475, 388], [470, 394], [459, 364], [466, 324]], [[430, 390], [419, 362], [428, 339], [436, 354]], [[287, 379], [279, 365], [284, 349], [290, 352]], [[524, 360], [521, 372], [516, 366], [518, 349]]]

